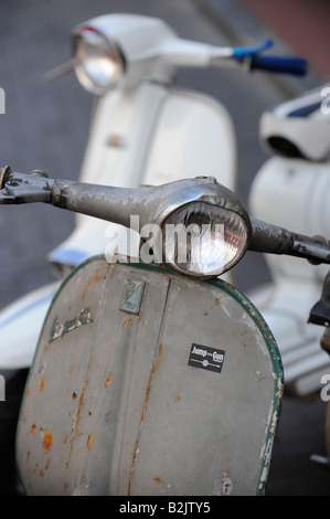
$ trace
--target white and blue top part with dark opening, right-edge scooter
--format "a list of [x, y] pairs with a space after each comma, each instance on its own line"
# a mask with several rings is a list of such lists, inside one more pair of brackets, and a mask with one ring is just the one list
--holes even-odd
[[265, 112], [262, 142], [272, 153], [312, 162], [330, 158], [330, 85]]

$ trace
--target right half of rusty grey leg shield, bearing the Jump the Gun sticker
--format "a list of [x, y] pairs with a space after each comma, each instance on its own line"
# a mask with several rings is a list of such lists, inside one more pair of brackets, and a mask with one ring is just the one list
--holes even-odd
[[[172, 278], [132, 494], [146, 486], [170, 496], [262, 490], [266, 430], [277, 412], [269, 350], [252, 313], [233, 294]], [[193, 351], [200, 364], [189, 362]]]

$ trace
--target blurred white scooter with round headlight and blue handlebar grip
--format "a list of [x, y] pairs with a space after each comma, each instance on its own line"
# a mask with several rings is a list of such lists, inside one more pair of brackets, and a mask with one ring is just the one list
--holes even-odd
[[[182, 40], [163, 21], [142, 15], [88, 20], [73, 30], [72, 39], [70, 68], [96, 95], [79, 180], [105, 186], [157, 186], [207, 171], [234, 190], [236, 139], [230, 114], [213, 98], [175, 88], [178, 70], [243, 66], [306, 73], [305, 60], [260, 55], [269, 41], [252, 49], [217, 47]], [[114, 232], [125, 253], [124, 227], [77, 215], [73, 234], [49, 255], [54, 272], [63, 278], [103, 253]], [[58, 283], [42, 287], [0, 313], [0, 369], [31, 364], [57, 288]]]

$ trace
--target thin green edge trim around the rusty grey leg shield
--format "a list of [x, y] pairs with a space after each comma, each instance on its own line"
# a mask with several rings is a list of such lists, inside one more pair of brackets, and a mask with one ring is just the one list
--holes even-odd
[[[88, 265], [89, 263], [97, 262], [97, 261], [106, 261], [105, 255], [99, 254], [99, 255], [92, 256], [88, 260], [84, 261], [78, 266], [76, 266], [67, 275], [67, 277], [62, 282], [62, 284], [60, 285], [60, 287], [58, 287], [56, 294], [54, 295], [53, 300], [50, 305], [50, 308], [49, 308], [47, 314], [45, 316], [43, 326], [41, 328], [40, 337], [42, 336], [42, 331], [44, 329], [45, 322], [49, 318], [50, 313], [52, 311], [53, 305], [54, 305], [57, 296], [64, 289], [65, 285], [68, 283], [68, 280], [78, 271], [84, 268], [86, 265]], [[151, 272], [156, 272], [156, 273], [163, 274], [163, 275], [167, 275], [167, 276], [180, 277], [177, 274], [173, 274], [173, 273], [167, 271], [164, 267], [162, 267], [158, 264], [152, 264], [152, 263], [150, 263], [150, 264], [128, 263], [128, 262], [127, 263], [117, 262], [117, 264], [127, 266], [129, 268], [151, 271]], [[264, 453], [263, 453], [262, 460], [260, 460], [259, 476], [258, 476], [258, 483], [257, 483], [257, 488], [256, 488], [256, 495], [257, 496], [263, 496], [264, 492], [265, 492], [265, 487], [266, 487], [266, 483], [267, 483], [267, 476], [268, 476], [268, 470], [269, 470], [269, 465], [270, 465], [273, 444], [274, 444], [274, 439], [275, 439], [275, 436], [276, 436], [276, 432], [277, 432], [277, 427], [278, 427], [278, 420], [279, 420], [280, 410], [281, 410], [281, 399], [283, 399], [283, 388], [284, 388], [284, 370], [283, 370], [283, 364], [281, 364], [280, 352], [278, 350], [276, 340], [275, 340], [268, 325], [264, 320], [264, 318], [260, 315], [260, 313], [258, 311], [258, 309], [237, 288], [235, 288], [230, 283], [227, 283], [223, 279], [220, 279], [220, 278], [205, 280], [205, 282], [199, 282], [199, 283], [210, 284], [210, 285], [216, 287], [217, 289], [220, 289], [222, 292], [225, 292], [231, 297], [233, 297], [244, 308], [244, 310], [249, 314], [249, 316], [252, 317], [252, 319], [256, 324], [257, 328], [259, 329], [259, 331], [260, 331], [260, 333], [262, 333], [262, 336], [265, 340], [265, 343], [266, 343], [268, 352], [269, 352], [269, 357], [270, 357], [270, 361], [272, 361], [272, 366], [273, 366], [273, 370], [274, 370], [274, 372], [273, 372], [273, 375], [274, 375], [274, 401], [273, 401], [272, 413], [269, 413], [269, 423], [267, 424], [265, 442], [264, 442]], [[39, 346], [40, 346], [40, 339], [39, 339], [38, 346], [35, 348], [35, 352], [34, 352], [34, 357], [33, 357], [31, 368], [34, 366], [34, 361], [35, 361], [35, 357], [38, 354]], [[23, 411], [24, 401], [25, 401], [25, 392], [26, 392], [26, 388], [28, 388], [29, 382], [30, 382], [30, 373], [31, 373], [31, 369], [30, 369], [30, 372], [29, 372], [29, 375], [28, 375], [28, 379], [26, 379], [26, 384], [25, 384], [25, 389], [24, 389], [24, 393], [23, 393], [23, 399], [22, 399], [22, 404], [21, 404], [21, 409], [20, 409], [20, 413], [19, 413], [18, 423], [20, 423], [20, 421], [21, 421], [21, 413]], [[19, 426], [20, 425], [18, 425], [18, 428], [19, 428]], [[15, 437], [15, 458], [18, 459], [17, 453], [18, 453], [18, 434], [17, 434], [17, 437]], [[17, 469], [18, 469], [19, 477], [21, 478], [19, 464], [17, 464]]]

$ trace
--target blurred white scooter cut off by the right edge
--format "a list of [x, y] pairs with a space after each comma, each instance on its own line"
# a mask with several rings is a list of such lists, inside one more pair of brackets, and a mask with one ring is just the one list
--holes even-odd
[[[307, 234], [329, 235], [330, 109], [329, 85], [265, 112], [260, 139], [273, 157], [254, 179], [249, 208], [254, 216]], [[266, 255], [273, 283], [249, 297], [263, 313], [279, 346], [286, 383], [298, 395], [320, 389], [330, 372], [320, 348], [321, 330], [307, 322], [319, 299], [327, 267]]]

